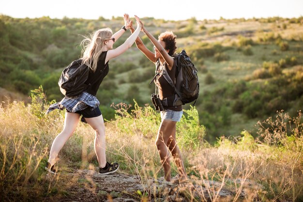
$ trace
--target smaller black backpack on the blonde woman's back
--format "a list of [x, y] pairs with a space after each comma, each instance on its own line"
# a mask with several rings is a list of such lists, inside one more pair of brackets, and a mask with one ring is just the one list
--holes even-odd
[[82, 59], [75, 60], [62, 71], [58, 85], [63, 95], [77, 96], [89, 87], [84, 82], [89, 77], [90, 68], [81, 63]]

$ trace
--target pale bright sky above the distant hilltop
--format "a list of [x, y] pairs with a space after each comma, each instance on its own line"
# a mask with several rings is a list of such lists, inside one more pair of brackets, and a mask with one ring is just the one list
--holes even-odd
[[303, 16], [303, 0], [0, 0], [0, 14], [14, 18], [84, 18], [100, 16], [197, 20]]

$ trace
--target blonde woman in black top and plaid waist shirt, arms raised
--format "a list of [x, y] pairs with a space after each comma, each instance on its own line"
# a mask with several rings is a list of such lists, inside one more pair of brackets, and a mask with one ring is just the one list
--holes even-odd
[[108, 73], [108, 61], [120, 56], [129, 49], [140, 33], [141, 24], [139, 18], [137, 16], [135, 17], [137, 24], [136, 30], [116, 49], [113, 49], [113, 44], [132, 25], [132, 21], [129, 19], [128, 14], [124, 14], [124, 26], [116, 33], [113, 34], [112, 30], [109, 28], [99, 29], [94, 32], [91, 39], [87, 38], [83, 40], [83, 44], [85, 42], [88, 43], [82, 50], [83, 57], [81, 59], [82, 63], [90, 68], [89, 77], [85, 82], [90, 85], [89, 88], [79, 96], [64, 97], [60, 102], [52, 104], [46, 112], [49, 113], [54, 109], [62, 110], [66, 108], [63, 130], [54, 139], [50, 149], [49, 159], [47, 161], [47, 166], [45, 167], [48, 172], [57, 172], [55, 163], [58, 154], [63, 145], [76, 130], [80, 115], [82, 115], [81, 120], [87, 122], [91, 128], [95, 130], [94, 150], [99, 162], [99, 173], [109, 174], [114, 173], [119, 169], [118, 163], [109, 163], [106, 161], [105, 125], [103, 116], [98, 107], [100, 102], [95, 96], [101, 82]]

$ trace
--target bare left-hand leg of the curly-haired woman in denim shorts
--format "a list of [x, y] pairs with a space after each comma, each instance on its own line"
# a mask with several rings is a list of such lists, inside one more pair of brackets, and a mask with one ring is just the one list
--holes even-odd
[[156, 139], [156, 146], [159, 151], [161, 163], [164, 168], [165, 179], [169, 182], [171, 179], [170, 176], [170, 160], [169, 160], [169, 152], [167, 149], [167, 141], [171, 134], [171, 130], [176, 128], [175, 121], [163, 120], [161, 122], [160, 128], [158, 130], [158, 135]]

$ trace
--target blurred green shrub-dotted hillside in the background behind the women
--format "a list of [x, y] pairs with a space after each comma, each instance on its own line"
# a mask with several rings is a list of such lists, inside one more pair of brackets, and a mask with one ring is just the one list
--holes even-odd
[[[206, 139], [239, 136], [243, 129], [256, 136], [255, 124], [277, 110], [291, 116], [303, 103], [303, 19], [279, 17], [165, 21], [143, 18], [154, 36], [172, 30], [178, 51], [185, 49], [198, 69], [200, 96], [196, 107]], [[111, 20], [14, 19], [0, 16], [0, 87], [29, 95], [42, 85], [48, 101], [61, 100], [57, 82], [72, 60], [80, 56], [79, 43], [89, 32], [121, 28], [121, 17]], [[127, 31], [115, 47], [130, 35]], [[140, 34], [152, 50], [146, 36]], [[114, 118], [110, 104], [151, 104], [149, 85], [154, 67], [136, 46], [110, 61], [110, 72], [97, 97], [107, 120]], [[6, 101], [6, 100], [4, 100]], [[189, 109], [190, 106], [184, 106]]]

